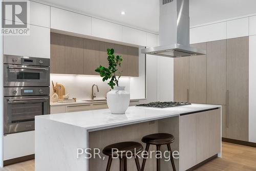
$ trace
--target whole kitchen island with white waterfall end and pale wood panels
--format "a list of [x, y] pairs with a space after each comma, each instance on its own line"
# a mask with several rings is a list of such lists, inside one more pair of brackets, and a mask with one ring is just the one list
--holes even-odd
[[[173, 151], [180, 153], [180, 158], [175, 159], [177, 170], [186, 170], [217, 155], [221, 157], [221, 106], [191, 104], [165, 109], [132, 106], [124, 115], [104, 109], [37, 116], [35, 171], [105, 170], [104, 155], [87, 159], [81, 149], [101, 151], [111, 143], [141, 142], [143, 136], [160, 132], [175, 137], [171, 145]], [[155, 150], [154, 146], [150, 149]], [[118, 170], [118, 162], [113, 160], [113, 171]], [[128, 170], [136, 170], [133, 162], [127, 161]], [[161, 160], [161, 167], [167, 170], [170, 162]], [[155, 169], [155, 158], [148, 159], [145, 170]]]

